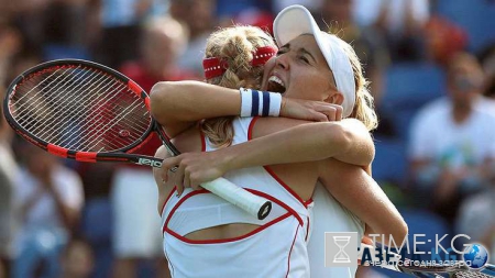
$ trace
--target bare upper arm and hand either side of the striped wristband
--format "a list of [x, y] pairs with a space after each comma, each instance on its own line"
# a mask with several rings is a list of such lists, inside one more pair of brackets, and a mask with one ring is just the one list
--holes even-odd
[[[164, 81], [153, 86], [151, 112], [169, 137], [197, 121], [217, 116], [240, 115], [241, 94], [237, 89], [200, 81]], [[280, 116], [307, 121], [334, 121], [340, 105], [322, 101], [282, 98]]]

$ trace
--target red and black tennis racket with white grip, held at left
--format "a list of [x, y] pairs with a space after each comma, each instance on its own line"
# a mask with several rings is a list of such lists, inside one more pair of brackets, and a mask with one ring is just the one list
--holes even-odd
[[[9, 86], [3, 113], [30, 143], [78, 162], [161, 167], [163, 159], [134, 154], [156, 132], [180, 154], [150, 113], [147, 93], [121, 73], [97, 63], [58, 59], [37, 65]], [[262, 220], [272, 203], [224, 178], [201, 185]]]

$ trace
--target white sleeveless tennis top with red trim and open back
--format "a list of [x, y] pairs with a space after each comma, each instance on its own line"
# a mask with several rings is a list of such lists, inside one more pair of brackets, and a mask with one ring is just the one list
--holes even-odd
[[[255, 121], [233, 121], [233, 144], [246, 142]], [[201, 136], [202, 151], [216, 147]], [[164, 252], [172, 276], [183, 277], [309, 277], [307, 241], [312, 201], [302, 201], [268, 167], [230, 171], [224, 178], [272, 201], [272, 211], [257, 220], [207, 190], [173, 190], [162, 212]], [[249, 223], [260, 227], [234, 238], [195, 241], [201, 229]]]

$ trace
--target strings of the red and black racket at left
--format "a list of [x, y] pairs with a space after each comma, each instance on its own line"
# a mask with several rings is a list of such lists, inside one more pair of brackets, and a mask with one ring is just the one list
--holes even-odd
[[150, 127], [143, 100], [123, 81], [92, 68], [67, 66], [35, 74], [15, 89], [14, 119], [45, 142], [84, 152], [110, 152]]

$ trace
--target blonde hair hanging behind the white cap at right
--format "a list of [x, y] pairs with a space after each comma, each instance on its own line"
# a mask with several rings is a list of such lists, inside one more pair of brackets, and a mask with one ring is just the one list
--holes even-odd
[[354, 48], [348, 43], [342, 44], [342, 47], [351, 62], [352, 71], [354, 73], [355, 104], [350, 118], [360, 120], [369, 131], [372, 131], [378, 126], [378, 118], [376, 116], [373, 96], [369, 89], [370, 82], [364, 77]]

